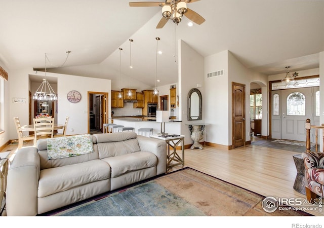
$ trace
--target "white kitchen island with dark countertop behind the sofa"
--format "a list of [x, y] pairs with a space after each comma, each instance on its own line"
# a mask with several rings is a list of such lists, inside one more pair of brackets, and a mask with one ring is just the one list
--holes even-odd
[[[114, 124], [123, 125], [124, 127], [133, 127], [135, 132], [139, 128], [153, 128], [153, 134], [161, 132], [161, 123], [156, 122], [154, 117], [113, 117], [110, 118]], [[165, 132], [168, 134], [179, 134], [181, 133], [181, 121], [169, 120], [165, 123]]]

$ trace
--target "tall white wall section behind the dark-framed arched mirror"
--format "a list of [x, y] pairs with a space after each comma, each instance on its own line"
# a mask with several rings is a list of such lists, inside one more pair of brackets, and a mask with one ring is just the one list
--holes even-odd
[[[201, 87], [197, 88], [197, 84]], [[192, 88], [200, 90], [203, 96], [203, 107], [205, 102], [204, 88], [204, 57], [193, 50], [184, 41], [179, 40], [179, 120], [181, 122], [181, 134], [185, 135], [185, 144], [191, 144], [193, 141], [190, 136], [190, 130], [186, 124], [204, 123], [200, 121], [187, 121], [187, 99], [188, 93]], [[177, 88], [178, 90], [178, 88]]]

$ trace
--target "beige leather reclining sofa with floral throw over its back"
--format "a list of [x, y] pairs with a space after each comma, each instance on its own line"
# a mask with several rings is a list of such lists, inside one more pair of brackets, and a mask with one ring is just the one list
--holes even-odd
[[94, 152], [49, 160], [47, 141], [17, 151], [8, 172], [8, 216], [42, 214], [166, 172], [166, 142], [134, 132], [95, 134]]

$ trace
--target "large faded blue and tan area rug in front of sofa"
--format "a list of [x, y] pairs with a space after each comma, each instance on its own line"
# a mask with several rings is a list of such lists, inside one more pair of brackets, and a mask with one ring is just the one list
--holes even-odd
[[191, 168], [57, 210], [53, 216], [301, 216], [262, 208], [264, 197]]

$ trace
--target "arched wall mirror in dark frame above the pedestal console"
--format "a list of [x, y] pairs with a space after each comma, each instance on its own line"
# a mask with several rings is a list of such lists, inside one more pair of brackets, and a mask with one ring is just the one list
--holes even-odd
[[198, 89], [193, 88], [188, 93], [188, 120], [201, 120], [202, 98]]

